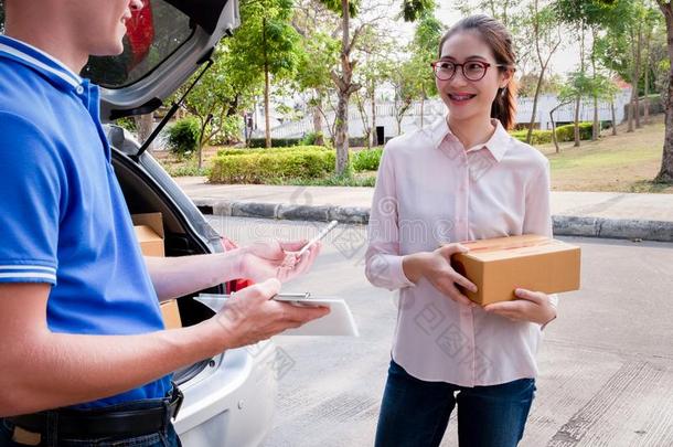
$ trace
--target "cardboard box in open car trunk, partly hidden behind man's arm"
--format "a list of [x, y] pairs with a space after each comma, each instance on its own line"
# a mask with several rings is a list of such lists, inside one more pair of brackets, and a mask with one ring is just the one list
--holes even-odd
[[[164, 233], [161, 213], [133, 214], [131, 220], [142, 254], [145, 256], [163, 257], [165, 252], [163, 248]], [[174, 299], [161, 302], [160, 308], [165, 329], [182, 328], [180, 310]]]

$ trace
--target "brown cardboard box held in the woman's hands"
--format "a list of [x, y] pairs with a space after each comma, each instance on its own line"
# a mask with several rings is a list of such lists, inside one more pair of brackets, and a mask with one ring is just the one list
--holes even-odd
[[523, 235], [464, 242], [470, 252], [451, 257], [451, 265], [478, 291], [461, 291], [485, 306], [515, 299], [514, 289], [556, 294], [579, 289], [580, 249], [546, 236]]

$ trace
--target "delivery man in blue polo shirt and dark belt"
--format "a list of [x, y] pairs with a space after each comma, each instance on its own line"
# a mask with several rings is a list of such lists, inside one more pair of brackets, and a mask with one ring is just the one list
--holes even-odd
[[[81, 78], [140, 0], [4, 0], [0, 36], [0, 446], [180, 445], [181, 366], [328, 312], [269, 300], [319, 248], [143, 259]], [[163, 330], [158, 301], [237, 277], [235, 308]], [[70, 444], [68, 444], [70, 443]], [[75, 443], [75, 444], [73, 444]]]

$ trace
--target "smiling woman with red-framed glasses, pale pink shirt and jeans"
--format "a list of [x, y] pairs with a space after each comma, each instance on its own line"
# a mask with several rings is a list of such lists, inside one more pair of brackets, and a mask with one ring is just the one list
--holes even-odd
[[512, 138], [512, 39], [485, 15], [461, 20], [431, 64], [448, 115], [391, 140], [378, 169], [366, 276], [399, 290], [376, 446], [438, 446], [457, 406], [463, 447], [513, 447], [535, 391], [535, 353], [556, 298], [516, 289], [480, 307], [451, 268], [460, 241], [552, 235], [548, 162]]

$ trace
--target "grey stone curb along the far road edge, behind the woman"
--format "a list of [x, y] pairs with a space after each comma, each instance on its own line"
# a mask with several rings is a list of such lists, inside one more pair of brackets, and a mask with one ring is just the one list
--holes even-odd
[[[218, 199], [194, 199], [204, 214], [225, 217], [277, 219], [288, 221], [366, 224], [370, 209], [364, 206], [289, 205], [284, 203], [228, 202]], [[642, 240], [673, 242], [673, 222], [641, 221], [554, 215], [554, 235], [605, 237], [615, 240]]]

